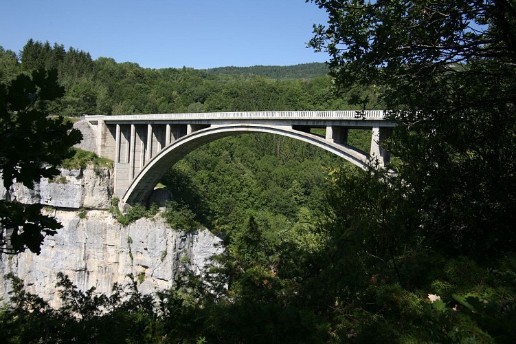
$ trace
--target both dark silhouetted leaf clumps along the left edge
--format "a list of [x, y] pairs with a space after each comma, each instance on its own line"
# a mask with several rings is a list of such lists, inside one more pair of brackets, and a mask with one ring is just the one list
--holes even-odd
[[[40, 178], [58, 175], [56, 166], [82, 139], [70, 122], [47, 116], [47, 103], [63, 92], [55, 70], [34, 70], [0, 85], [0, 171], [7, 193], [14, 181], [33, 189]], [[54, 217], [41, 214], [41, 208], [0, 200], [0, 252], [40, 252], [45, 235], [62, 227]]]

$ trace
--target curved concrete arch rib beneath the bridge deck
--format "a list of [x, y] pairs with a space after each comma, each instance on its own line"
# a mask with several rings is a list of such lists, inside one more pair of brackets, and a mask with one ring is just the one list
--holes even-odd
[[341, 158], [360, 166], [365, 167], [369, 155], [355, 147], [347, 144], [336, 144], [313, 133], [305, 133], [291, 129], [291, 127], [278, 127], [271, 125], [218, 125], [207, 129], [194, 131], [187, 136], [179, 138], [159, 153], [144, 166], [142, 171], [133, 179], [126, 193], [122, 197], [124, 203], [135, 204], [145, 202], [148, 195], [153, 191], [156, 184], [163, 175], [176, 162], [185, 155], [194, 151], [204, 144], [243, 133], [273, 133], [276, 135], [287, 136], [313, 144], [316, 147], [325, 149]]

